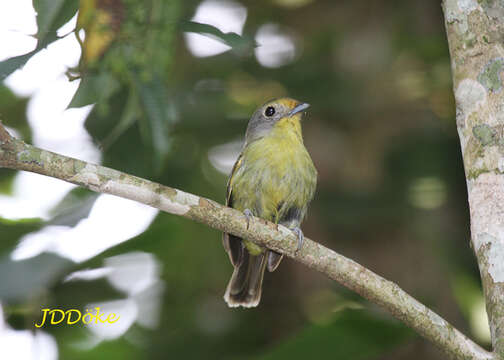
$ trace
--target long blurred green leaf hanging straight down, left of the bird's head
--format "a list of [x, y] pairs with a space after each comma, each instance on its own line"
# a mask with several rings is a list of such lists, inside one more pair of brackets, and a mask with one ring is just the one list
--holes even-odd
[[171, 125], [177, 119], [175, 105], [169, 101], [164, 84], [156, 76], [150, 81], [140, 81], [135, 77], [140, 103], [145, 113], [141, 117], [140, 130], [146, 144], [154, 148], [154, 165], [161, 171], [162, 164], [170, 152]]

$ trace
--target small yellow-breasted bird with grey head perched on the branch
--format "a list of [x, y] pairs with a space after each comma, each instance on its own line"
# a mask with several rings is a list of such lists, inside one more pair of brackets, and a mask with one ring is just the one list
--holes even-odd
[[[247, 221], [257, 216], [292, 229], [298, 248], [303, 243], [299, 226], [317, 185], [317, 170], [301, 133], [300, 121], [308, 107], [282, 98], [256, 110], [226, 196], [226, 205], [243, 211]], [[283, 255], [227, 233], [222, 241], [234, 266], [224, 300], [230, 307], [257, 306], [264, 270], [274, 271]]]

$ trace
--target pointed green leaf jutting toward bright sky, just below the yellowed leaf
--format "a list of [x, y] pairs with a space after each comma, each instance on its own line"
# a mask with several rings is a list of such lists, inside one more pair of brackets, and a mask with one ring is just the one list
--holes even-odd
[[68, 108], [82, 107], [96, 102], [105, 102], [119, 89], [119, 82], [107, 72], [82, 78]]

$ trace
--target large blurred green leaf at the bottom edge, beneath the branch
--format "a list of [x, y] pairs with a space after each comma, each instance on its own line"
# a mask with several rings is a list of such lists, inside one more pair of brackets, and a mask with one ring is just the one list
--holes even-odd
[[332, 323], [310, 326], [259, 359], [306, 360], [313, 354], [321, 359], [374, 359], [412, 334], [397, 321], [365, 310], [345, 310]]

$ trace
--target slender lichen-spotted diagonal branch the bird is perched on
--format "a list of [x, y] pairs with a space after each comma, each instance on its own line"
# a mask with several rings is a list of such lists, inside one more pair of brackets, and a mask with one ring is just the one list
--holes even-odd
[[281, 225], [277, 227], [255, 218], [247, 229], [245, 217], [235, 209], [117, 170], [38, 149], [11, 138], [1, 123], [0, 167], [31, 171], [96, 192], [134, 200], [250, 239], [327, 275], [382, 306], [453, 358], [493, 359], [491, 353], [480, 348], [393, 282], [308, 238], [305, 238], [303, 248], [297, 251], [296, 236]]

